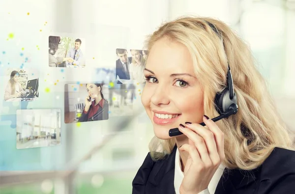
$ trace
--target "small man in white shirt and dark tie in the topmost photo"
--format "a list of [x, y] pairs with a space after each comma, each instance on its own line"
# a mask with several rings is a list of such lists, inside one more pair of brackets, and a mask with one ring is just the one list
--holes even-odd
[[74, 48], [70, 48], [67, 51], [67, 55], [66, 58], [72, 58], [69, 59], [66, 62], [66, 65], [78, 65], [78, 66], [85, 66], [85, 59], [84, 59], [84, 55], [83, 52], [80, 49], [80, 46], [82, 44], [81, 39], [76, 39], [75, 40], [75, 47]]

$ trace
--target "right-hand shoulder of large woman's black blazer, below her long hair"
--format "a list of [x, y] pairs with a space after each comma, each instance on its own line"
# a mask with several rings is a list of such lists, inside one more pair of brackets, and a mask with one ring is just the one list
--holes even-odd
[[295, 151], [275, 147], [255, 169], [226, 168], [216, 190], [241, 191], [245, 194], [253, 191], [259, 194], [291, 194], [295, 190], [294, 166]]

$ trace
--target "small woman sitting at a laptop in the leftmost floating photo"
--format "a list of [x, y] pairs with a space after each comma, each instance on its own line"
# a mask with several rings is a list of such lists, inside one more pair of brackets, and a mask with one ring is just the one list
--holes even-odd
[[10, 73], [10, 79], [7, 83], [5, 93], [4, 93], [4, 100], [8, 100], [10, 98], [14, 97], [20, 97], [22, 96], [22, 91], [24, 90], [21, 86], [21, 84], [18, 82], [20, 74], [18, 71], [12, 71]]

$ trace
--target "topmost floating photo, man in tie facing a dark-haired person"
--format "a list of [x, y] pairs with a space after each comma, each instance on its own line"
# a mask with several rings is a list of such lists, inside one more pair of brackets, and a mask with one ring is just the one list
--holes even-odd
[[49, 36], [50, 67], [85, 67], [82, 38]]

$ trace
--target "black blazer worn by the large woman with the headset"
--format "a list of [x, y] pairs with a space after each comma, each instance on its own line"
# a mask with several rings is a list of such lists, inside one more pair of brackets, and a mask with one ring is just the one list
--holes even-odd
[[[148, 153], [133, 182], [132, 194], [175, 194], [177, 146], [170, 156], [154, 162]], [[254, 170], [225, 168], [215, 194], [294, 194], [295, 151], [276, 147]]]

